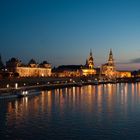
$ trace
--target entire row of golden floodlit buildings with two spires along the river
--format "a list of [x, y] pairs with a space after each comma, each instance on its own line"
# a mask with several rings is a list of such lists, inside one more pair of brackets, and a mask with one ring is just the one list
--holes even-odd
[[[1, 58], [1, 57], [0, 57]], [[1, 60], [1, 59], [0, 59]], [[110, 49], [107, 63], [101, 65], [100, 68], [95, 68], [94, 58], [90, 50], [89, 57], [85, 65], [61, 65], [52, 70], [51, 64], [43, 61], [41, 64], [31, 59], [27, 65], [21, 63], [16, 58], [11, 58], [6, 62], [6, 69], [10, 75], [18, 75], [19, 77], [80, 77], [80, 76], [95, 76], [101, 79], [115, 79], [131, 77], [130, 71], [117, 71], [114, 63], [113, 53]], [[98, 70], [97, 70], [98, 69]]]

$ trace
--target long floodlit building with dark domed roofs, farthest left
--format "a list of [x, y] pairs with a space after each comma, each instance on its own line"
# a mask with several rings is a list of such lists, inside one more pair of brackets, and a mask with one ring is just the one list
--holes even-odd
[[22, 64], [16, 58], [11, 58], [6, 62], [6, 67], [9, 72], [18, 74], [19, 77], [46, 77], [51, 76], [51, 65], [46, 61], [37, 64], [35, 60], [31, 59], [28, 65]]

